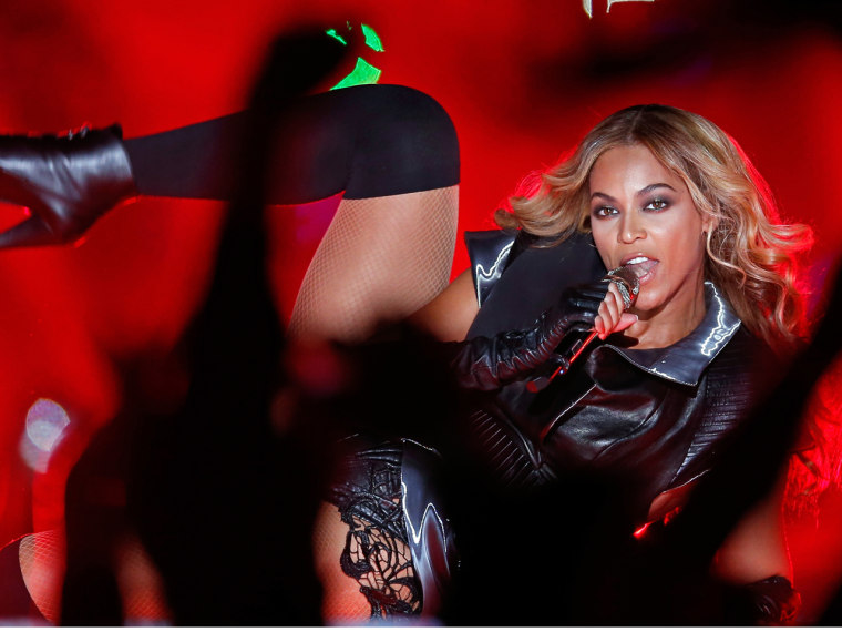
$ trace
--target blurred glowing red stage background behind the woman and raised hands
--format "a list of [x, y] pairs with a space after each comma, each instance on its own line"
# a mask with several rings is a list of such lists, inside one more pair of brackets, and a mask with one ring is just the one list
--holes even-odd
[[[656, 0], [607, 12], [595, 0], [588, 18], [578, 0], [6, 0], [0, 128], [120, 121], [136, 136], [234, 112], [279, 31], [366, 22], [386, 49], [366, 55], [381, 82], [423, 90], [453, 118], [462, 230], [491, 227], [522, 175], [603, 116], [663, 102], [737, 137], [784, 216], [814, 227], [810, 279], [821, 288], [842, 245], [842, 38], [830, 3], [803, 4], [784, 13], [777, 2]], [[64, 473], [120, 402], [114, 363], [177, 338], [206, 287], [222, 211], [147, 198], [107, 215], [76, 247], [0, 252], [0, 542], [60, 523]], [[291, 211], [271, 213], [283, 244]], [[20, 217], [0, 208], [3, 224]], [[286, 266], [277, 278], [289, 278], [306, 261], [277, 265]], [[465, 265], [460, 238], [454, 273]], [[62, 444], [49, 476], [18, 456], [38, 398], [60, 402], [79, 439]], [[808, 609], [842, 568], [835, 507], [818, 527], [791, 524]]]

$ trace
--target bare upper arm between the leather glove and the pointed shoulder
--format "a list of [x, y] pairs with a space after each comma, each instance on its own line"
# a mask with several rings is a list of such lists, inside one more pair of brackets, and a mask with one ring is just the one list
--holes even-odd
[[479, 310], [471, 271], [465, 269], [409, 320], [442, 342], [459, 342], [465, 339]]

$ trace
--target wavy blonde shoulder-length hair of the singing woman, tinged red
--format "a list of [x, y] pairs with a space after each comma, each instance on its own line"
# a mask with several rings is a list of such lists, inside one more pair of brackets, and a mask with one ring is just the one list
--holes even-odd
[[728, 134], [707, 119], [669, 105], [635, 105], [598, 123], [556, 166], [527, 176], [510, 208], [495, 215], [504, 228], [557, 237], [589, 232], [588, 177], [606, 151], [649, 149], [680, 177], [707, 234], [705, 277], [728, 297], [754, 335], [792, 349], [805, 334], [804, 302], [797, 289], [795, 254], [812, 244], [803, 224], [783, 224], [769, 186]]

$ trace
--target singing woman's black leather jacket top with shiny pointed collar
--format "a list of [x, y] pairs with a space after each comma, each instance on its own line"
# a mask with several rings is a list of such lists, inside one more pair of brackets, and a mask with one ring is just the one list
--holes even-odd
[[[588, 235], [552, 247], [501, 231], [469, 233], [480, 312], [468, 337], [527, 328], [569, 286], [605, 274]], [[541, 486], [566, 472], [628, 482], [645, 521], [653, 499], [704, 475], [762, 388], [771, 351], [706, 284], [707, 314], [664, 349], [594, 340], [571, 371], [538, 394], [527, 379], [481, 396], [471, 424], [506, 486]]]

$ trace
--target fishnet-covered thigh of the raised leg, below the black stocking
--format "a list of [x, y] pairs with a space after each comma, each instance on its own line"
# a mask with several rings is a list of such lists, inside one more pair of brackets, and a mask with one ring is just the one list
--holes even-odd
[[343, 200], [301, 283], [289, 334], [363, 338], [409, 316], [450, 279], [459, 186]]

